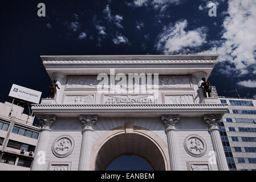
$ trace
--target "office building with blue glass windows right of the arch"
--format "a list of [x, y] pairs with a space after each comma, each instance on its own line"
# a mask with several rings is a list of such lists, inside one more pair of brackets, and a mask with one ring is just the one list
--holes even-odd
[[220, 124], [221, 140], [230, 171], [256, 170], [256, 100], [220, 98], [227, 113]]

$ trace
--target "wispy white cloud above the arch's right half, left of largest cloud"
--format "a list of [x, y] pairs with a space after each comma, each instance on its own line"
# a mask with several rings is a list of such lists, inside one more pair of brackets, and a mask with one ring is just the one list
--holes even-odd
[[186, 20], [175, 23], [174, 26], [164, 27], [163, 32], [158, 36], [157, 50], [165, 53], [190, 53], [190, 48], [202, 46], [206, 43], [206, 28], [185, 31], [188, 26]]

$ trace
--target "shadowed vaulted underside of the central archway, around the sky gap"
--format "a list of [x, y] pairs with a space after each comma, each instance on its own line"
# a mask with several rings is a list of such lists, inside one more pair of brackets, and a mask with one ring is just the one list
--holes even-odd
[[135, 133], [116, 135], [105, 142], [97, 153], [95, 170], [104, 171], [113, 160], [122, 155], [140, 156], [147, 160], [153, 170], [165, 170], [164, 158], [156, 144]]

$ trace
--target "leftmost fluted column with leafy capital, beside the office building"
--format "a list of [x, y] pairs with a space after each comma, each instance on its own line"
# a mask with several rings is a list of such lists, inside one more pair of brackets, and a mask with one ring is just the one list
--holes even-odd
[[[51, 132], [51, 124], [55, 121], [55, 115], [38, 115], [37, 117], [42, 125], [38, 143], [35, 150], [35, 158], [32, 163], [31, 171], [42, 170], [42, 164], [45, 164], [43, 157], [45, 156], [48, 139]], [[39, 155], [38, 155], [39, 154]]]

